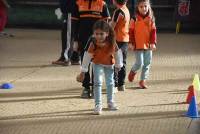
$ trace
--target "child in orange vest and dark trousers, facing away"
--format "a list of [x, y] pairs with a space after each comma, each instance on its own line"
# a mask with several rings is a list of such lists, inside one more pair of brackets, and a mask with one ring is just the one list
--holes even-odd
[[130, 22], [130, 13], [126, 7], [127, 1], [128, 0], [113, 0], [117, 9], [114, 11], [111, 21], [111, 26], [116, 34], [117, 45], [123, 54], [123, 67], [118, 73], [115, 73], [115, 87], [117, 87], [119, 91], [125, 90], [126, 57], [128, 51], [128, 32]]

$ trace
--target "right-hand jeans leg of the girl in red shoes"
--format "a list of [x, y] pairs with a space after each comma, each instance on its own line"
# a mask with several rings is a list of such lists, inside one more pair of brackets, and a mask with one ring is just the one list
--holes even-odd
[[152, 50], [146, 50], [143, 53], [144, 65], [142, 66], [141, 80], [146, 80], [149, 75], [150, 64], [152, 61]]

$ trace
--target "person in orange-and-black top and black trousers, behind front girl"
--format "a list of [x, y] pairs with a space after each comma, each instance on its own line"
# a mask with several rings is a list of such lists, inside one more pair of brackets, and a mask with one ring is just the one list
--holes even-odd
[[[84, 52], [87, 49], [86, 44], [89, 37], [92, 35], [92, 26], [97, 20], [110, 19], [110, 13], [107, 4], [103, 0], [76, 0], [75, 20], [77, 20], [77, 33], [75, 41], [78, 42], [81, 60], [83, 59]], [[73, 15], [72, 15], [73, 16]], [[82, 98], [88, 98], [90, 92], [90, 74], [85, 74], [82, 83], [83, 92]]]

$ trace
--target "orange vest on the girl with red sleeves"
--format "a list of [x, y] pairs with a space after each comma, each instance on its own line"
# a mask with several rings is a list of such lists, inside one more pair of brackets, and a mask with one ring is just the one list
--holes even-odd
[[149, 49], [151, 31], [155, 29], [154, 22], [147, 16], [144, 19], [137, 15], [134, 22], [131, 21], [130, 29], [134, 29], [135, 49]]

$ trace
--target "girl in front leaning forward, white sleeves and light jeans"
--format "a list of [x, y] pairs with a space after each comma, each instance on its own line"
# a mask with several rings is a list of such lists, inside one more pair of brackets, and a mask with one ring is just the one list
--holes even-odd
[[[89, 45], [88, 51], [84, 54], [82, 71], [87, 72], [87, 66], [92, 59], [93, 74], [94, 74], [94, 99], [95, 109], [94, 114], [101, 114], [102, 112], [102, 83], [103, 74], [105, 74], [107, 104], [109, 110], [117, 110], [114, 103], [114, 64], [115, 68], [119, 70], [123, 64], [120, 60], [120, 54], [115, 42], [113, 29], [109, 24], [103, 20], [97, 21], [93, 26], [94, 37]], [[85, 58], [88, 57], [88, 60]], [[120, 62], [121, 61], [121, 62]], [[117, 64], [116, 64], [117, 63]], [[86, 64], [86, 65], [85, 65]], [[77, 76], [77, 80], [84, 79], [84, 73]]]

